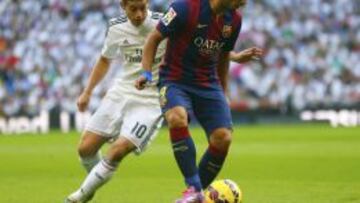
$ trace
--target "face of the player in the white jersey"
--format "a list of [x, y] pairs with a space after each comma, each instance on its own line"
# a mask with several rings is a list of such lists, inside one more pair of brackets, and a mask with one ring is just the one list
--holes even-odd
[[147, 16], [147, 2], [147, 0], [128, 0], [122, 5], [133, 25], [140, 26], [144, 22]]

